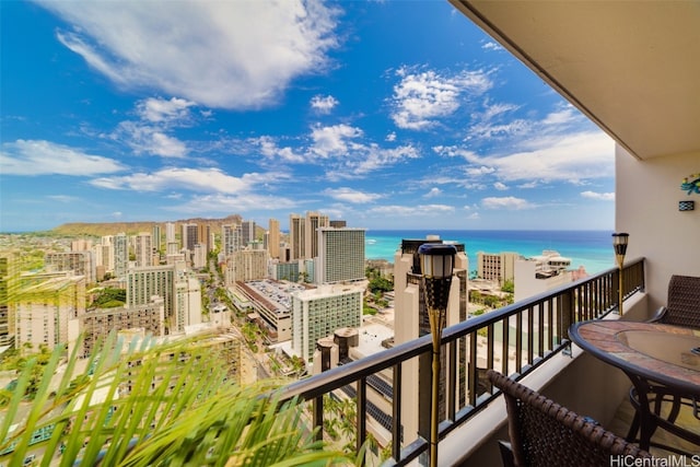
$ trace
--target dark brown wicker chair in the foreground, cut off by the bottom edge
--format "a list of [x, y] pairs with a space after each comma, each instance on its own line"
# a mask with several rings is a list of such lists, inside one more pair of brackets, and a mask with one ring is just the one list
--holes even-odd
[[578, 416], [501, 373], [491, 370], [488, 376], [505, 397], [511, 443], [510, 451], [501, 444], [504, 466], [609, 467], [618, 456], [652, 457], [594, 420]]

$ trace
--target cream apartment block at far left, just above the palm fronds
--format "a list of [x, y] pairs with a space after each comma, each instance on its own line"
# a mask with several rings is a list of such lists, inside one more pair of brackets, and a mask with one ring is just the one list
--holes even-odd
[[85, 277], [63, 276], [40, 280], [18, 293], [14, 345], [34, 348], [71, 345], [69, 322], [85, 314]]

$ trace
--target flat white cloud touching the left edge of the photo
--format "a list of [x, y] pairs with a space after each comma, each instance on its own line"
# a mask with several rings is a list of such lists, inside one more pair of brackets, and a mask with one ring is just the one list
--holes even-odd
[[94, 176], [125, 171], [118, 161], [92, 155], [45, 140], [2, 143], [0, 167], [3, 175]]

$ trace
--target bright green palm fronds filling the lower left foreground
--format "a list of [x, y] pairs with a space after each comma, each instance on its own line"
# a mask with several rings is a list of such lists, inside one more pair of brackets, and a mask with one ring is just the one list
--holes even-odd
[[[150, 350], [138, 350], [147, 347]], [[93, 369], [91, 375], [77, 370], [77, 351], [57, 373], [63, 353], [62, 347], [50, 353], [28, 413], [20, 405], [32, 378], [31, 364], [22, 370], [0, 420], [0, 452], [10, 450], [7, 456], [25, 458], [34, 433], [45, 430], [50, 437], [37, 453], [42, 465], [52, 459], [60, 466], [349, 462], [342, 453], [326, 451], [315, 431], [300, 429], [303, 406], [298, 400], [281, 404], [278, 382], [234, 385], [215, 352], [194, 340], [126, 349], [112, 336], [85, 365]], [[95, 402], [98, 393], [102, 402]]]

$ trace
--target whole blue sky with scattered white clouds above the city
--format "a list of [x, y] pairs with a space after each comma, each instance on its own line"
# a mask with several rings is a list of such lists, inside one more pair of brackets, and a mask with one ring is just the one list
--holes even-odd
[[612, 140], [447, 1], [0, 8], [0, 231], [612, 229]]

